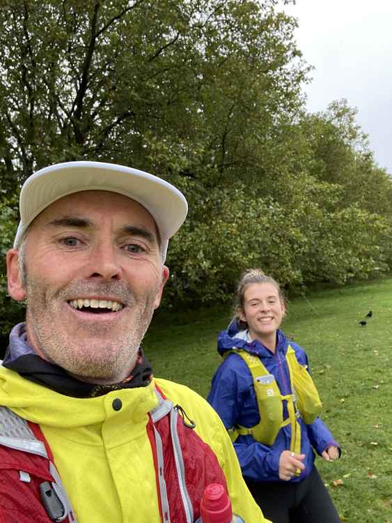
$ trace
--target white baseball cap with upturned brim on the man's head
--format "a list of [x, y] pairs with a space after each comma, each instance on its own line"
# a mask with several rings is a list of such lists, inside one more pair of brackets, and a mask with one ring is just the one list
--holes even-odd
[[24, 182], [19, 197], [20, 222], [14, 247], [31, 222], [56, 200], [84, 190], [107, 190], [134, 199], [154, 218], [164, 258], [168, 240], [187, 217], [185, 196], [167, 181], [132, 167], [103, 162], [65, 162], [49, 165]]

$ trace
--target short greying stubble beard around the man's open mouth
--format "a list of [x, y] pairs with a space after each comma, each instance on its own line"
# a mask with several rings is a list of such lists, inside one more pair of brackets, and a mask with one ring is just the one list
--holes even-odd
[[[136, 300], [121, 282], [72, 282], [50, 294], [45, 281], [24, 277], [27, 335], [39, 356], [95, 384], [118, 383], [130, 374], [150, 325], [158, 285]], [[117, 296], [132, 310], [127, 327], [113, 333], [111, 325], [80, 322], [72, 331], [62, 321], [61, 304], [75, 295]]]

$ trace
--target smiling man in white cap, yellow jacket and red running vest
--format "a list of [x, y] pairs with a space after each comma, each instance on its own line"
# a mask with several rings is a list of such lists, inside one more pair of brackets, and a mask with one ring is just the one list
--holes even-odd
[[209, 483], [265, 522], [196, 393], [155, 379], [140, 344], [187, 215], [166, 181], [67, 162], [33, 174], [7, 254], [26, 300], [0, 367], [0, 521], [193, 523]]

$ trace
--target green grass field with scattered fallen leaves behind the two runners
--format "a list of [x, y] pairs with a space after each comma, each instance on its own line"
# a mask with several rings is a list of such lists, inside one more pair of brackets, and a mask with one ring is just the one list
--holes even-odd
[[[143, 344], [155, 375], [206, 396], [229, 316], [158, 313]], [[342, 521], [392, 523], [392, 279], [295, 298], [283, 331], [306, 349], [322, 418], [343, 448], [338, 462], [317, 458]]]

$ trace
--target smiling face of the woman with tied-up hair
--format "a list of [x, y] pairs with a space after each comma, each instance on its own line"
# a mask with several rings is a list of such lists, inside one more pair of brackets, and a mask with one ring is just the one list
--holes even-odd
[[285, 315], [285, 304], [279, 290], [269, 282], [251, 283], [244, 292], [244, 309], [240, 319], [246, 321], [252, 340], [267, 339], [276, 334]]

